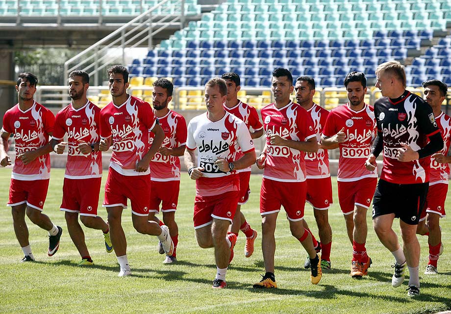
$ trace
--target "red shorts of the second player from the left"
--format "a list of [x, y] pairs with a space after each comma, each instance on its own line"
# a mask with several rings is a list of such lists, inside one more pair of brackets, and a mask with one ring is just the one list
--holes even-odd
[[97, 217], [102, 178], [64, 178], [63, 202], [60, 210], [79, 212], [80, 216]]

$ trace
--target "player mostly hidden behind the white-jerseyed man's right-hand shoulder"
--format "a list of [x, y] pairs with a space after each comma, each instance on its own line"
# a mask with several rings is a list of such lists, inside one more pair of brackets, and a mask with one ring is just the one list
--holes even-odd
[[[251, 133], [252, 139], [261, 137], [264, 131], [257, 110], [238, 99], [238, 92], [241, 89], [241, 79], [238, 74], [224, 73], [221, 78], [224, 78], [227, 84], [227, 99], [224, 105], [225, 111], [243, 120]], [[237, 211], [233, 218], [232, 225], [230, 226], [230, 232], [238, 236], [238, 232], [241, 230], [246, 235], [244, 256], [251, 257], [254, 251], [254, 242], [257, 237], [257, 231], [251, 228], [251, 225], [246, 221], [246, 217], [241, 211], [241, 205], [244, 205], [248, 201], [249, 194], [251, 194], [251, 189], [249, 187], [251, 167], [237, 172], [240, 176], [240, 200], [238, 201]]]

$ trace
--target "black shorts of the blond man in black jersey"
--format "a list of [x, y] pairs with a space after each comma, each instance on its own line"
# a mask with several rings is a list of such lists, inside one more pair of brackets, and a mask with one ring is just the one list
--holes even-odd
[[408, 225], [418, 225], [429, 183], [398, 184], [379, 180], [373, 198], [373, 219], [395, 214]]

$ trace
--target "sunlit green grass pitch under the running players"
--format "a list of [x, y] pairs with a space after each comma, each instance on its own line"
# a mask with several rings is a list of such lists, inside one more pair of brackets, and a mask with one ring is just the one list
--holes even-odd
[[[104, 171], [103, 182], [106, 179]], [[193, 229], [194, 182], [182, 174], [176, 221], [179, 226], [177, 259], [162, 264], [156, 237], [140, 235], [132, 227], [131, 213], [124, 210], [123, 226], [128, 242], [128, 259], [133, 276], [118, 278], [119, 265], [114, 253], [107, 254], [100, 231], [84, 228], [86, 242], [94, 260], [91, 267], [78, 267], [80, 256], [59, 211], [63, 169], [52, 169], [45, 205], [52, 221], [63, 227], [59, 251], [47, 256], [47, 232], [28, 219], [30, 243], [37, 262], [19, 263], [22, 250], [15, 238], [8, 200], [10, 169], [0, 169], [0, 312], [1, 313], [436, 313], [451, 309], [451, 221], [442, 219], [444, 254], [440, 257], [440, 275], [423, 275], [427, 263], [427, 238], [421, 244], [421, 296], [407, 297], [406, 281], [391, 287], [394, 259], [378, 241], [372, 229], [371, 211], [367, 250], [373, 260], [368, 276], [354, 280], [349, 275], [352, 246], [338, 207], [336, 179], [334, 202], [329, 209], [333, 244], [332, 269], [323, 273], [318, 286], [310, 284], [309, 270], [302, 265], [306, 257], [298, 240], [290, 235], [283, 210], [276, 230], [276, 281], [279, 288], [255, 290], [252, 284], [264, 274], [261, 253], [259, 190], [261, 176], [251, 176], [251, 197], [243, 212], [259, 233], [255, 252], [244, 257], [244, 235], [240, 233], [235, 257], [227, 272], [227, 288], [212, 289], [215, 262], [212, 249], [198, 247]], [[449, 193], [450, 194], [450, 193]], [[449, 195], [450, 199], [450, 195]], [[101, 192], [100, 202], [103, 200]], [[451, 201], [447, 209], [451, 211]], [[317, 228], [311, 207], [305, 217], [312, 231]], [[106, 219], [106, 211], [99, 208]], [[399, 222], [394, 226], [399, 230]]]

